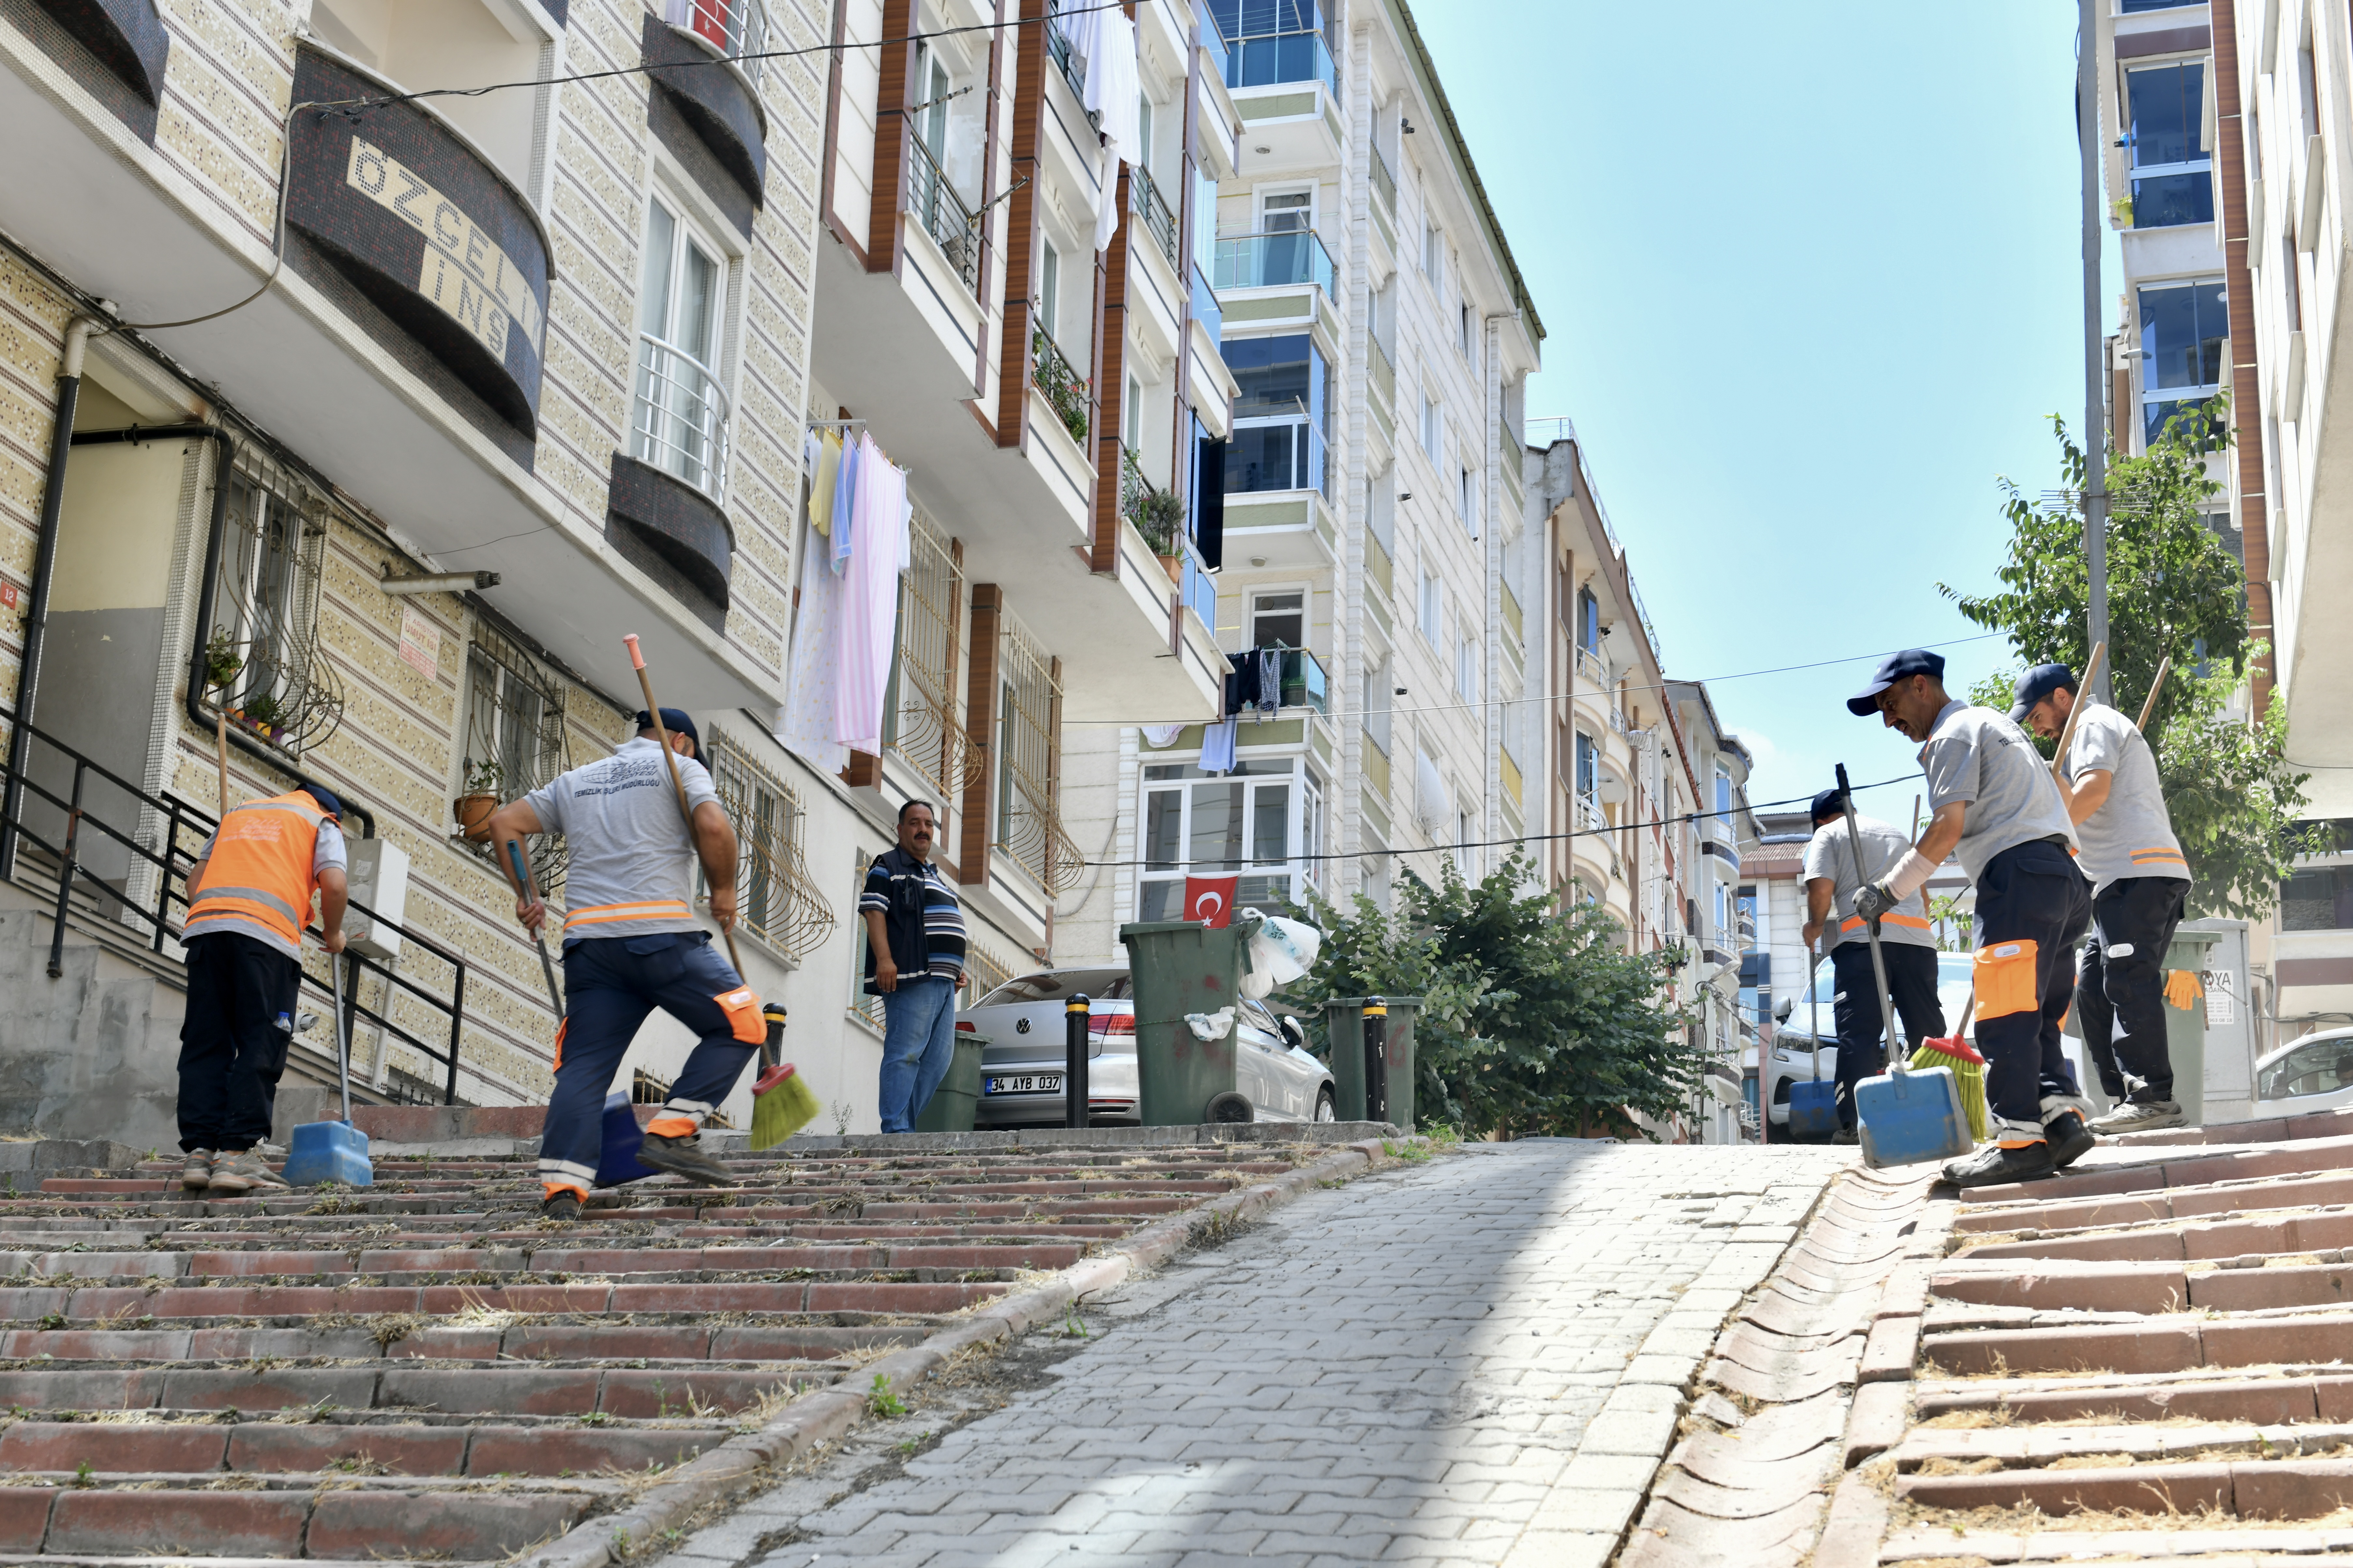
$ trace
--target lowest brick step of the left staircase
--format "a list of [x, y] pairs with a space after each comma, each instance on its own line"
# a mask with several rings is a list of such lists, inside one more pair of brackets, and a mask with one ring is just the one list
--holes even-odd
[[0, 1552], [351, 1559], [388, 1542], [409, 1556], [499, 1559], [562, 1535], [598, 1502], [574, 1493], [111, 1490], [0, 1486]]

